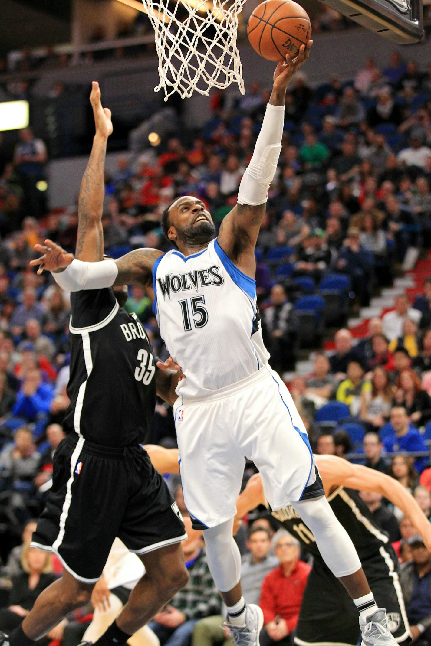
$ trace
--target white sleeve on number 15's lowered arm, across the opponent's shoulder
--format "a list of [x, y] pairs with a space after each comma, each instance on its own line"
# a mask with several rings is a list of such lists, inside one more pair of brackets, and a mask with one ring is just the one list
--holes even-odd
[[65, 271], [52, 272], [56, 283], [65, 291], [112, 287], [117, 275], [118, 267], [114, 260], [110, 259], [101, 262], [82, 262], [75, 258]]

